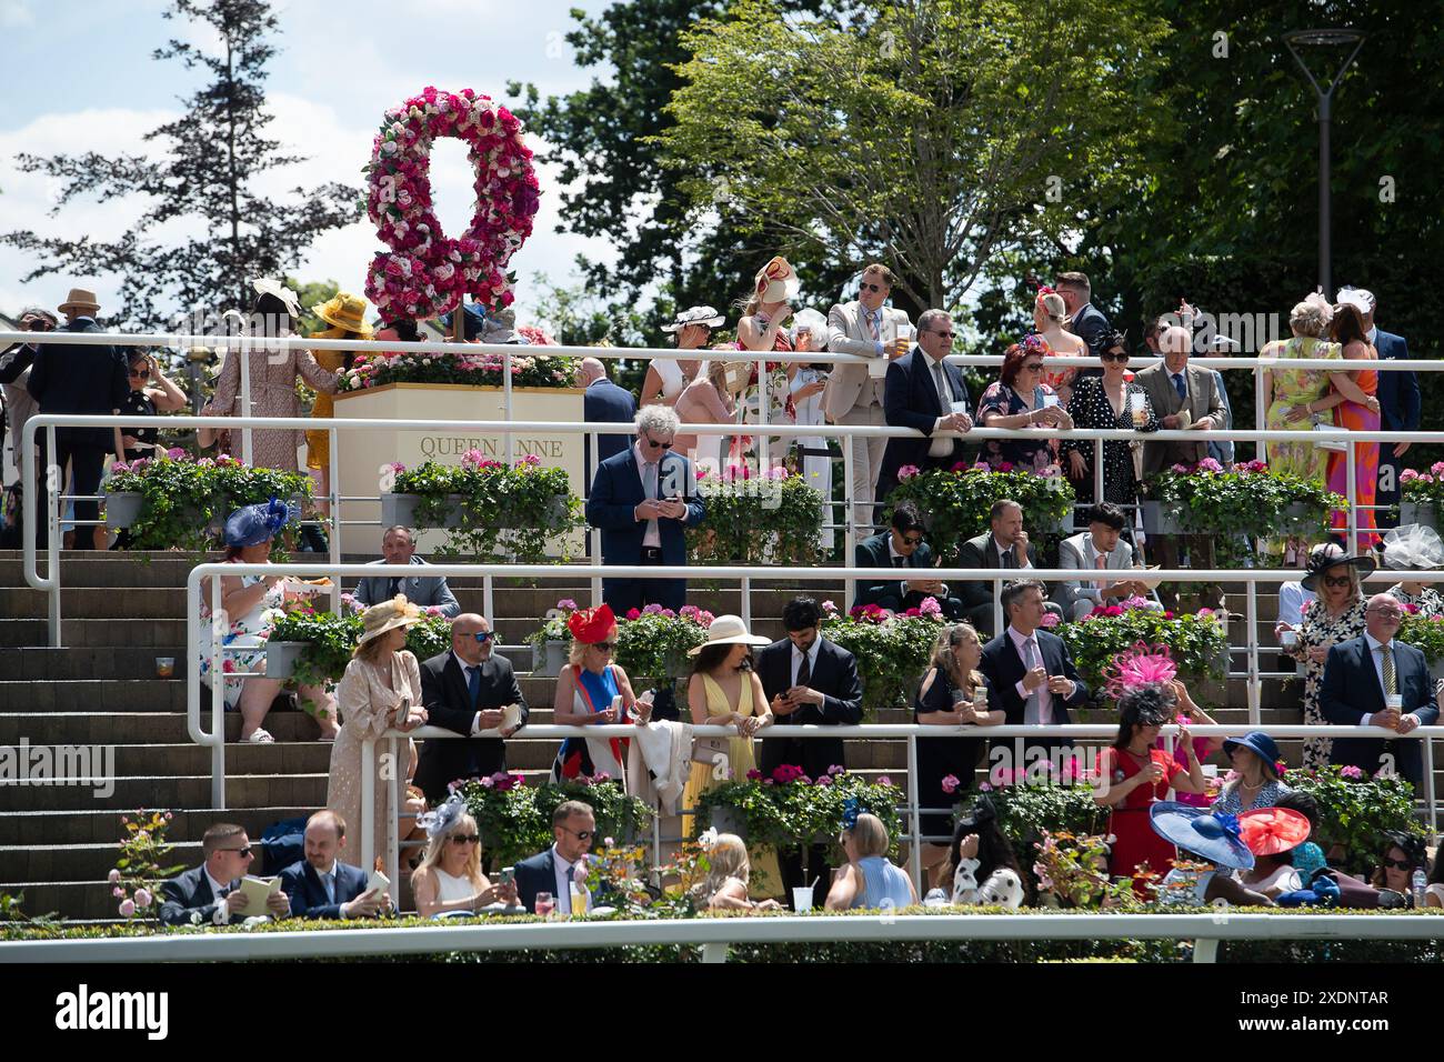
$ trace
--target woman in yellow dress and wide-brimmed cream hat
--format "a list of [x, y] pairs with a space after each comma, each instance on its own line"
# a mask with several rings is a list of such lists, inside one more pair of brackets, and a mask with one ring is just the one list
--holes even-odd
[[[682, 795], [684, 808], [696, 808], [708, 789], [729, 779], [745, 779], [748, 772], [757, 769], [752, 735], [773, 722], [773, 712], [767, 707], [762, 679], [752, 670], [752, 647], [767, 644], [771, 644], [767, 639], [748, 633], [741, 617], [719, 616], [708, 627], [706, 644], [692, 650], [692, 656], [697, 657], [687, 681], [692, 721], [697, 725], [735, 725], [736, 737], [696, 738], [692, 776]], [[693, 832], [693, 816], [684, 815], [682, 834], [692, 837]], [[754, 857], [752, 867], [764, 889], [781, 889], [775, 852], [761, 860]]]

